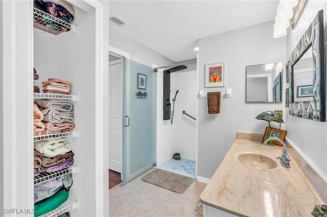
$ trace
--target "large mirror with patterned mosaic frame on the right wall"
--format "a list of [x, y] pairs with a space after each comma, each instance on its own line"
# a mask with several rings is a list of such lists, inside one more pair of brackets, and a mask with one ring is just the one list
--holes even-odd
[[325, 121], [323, 11], [319, 11], [291, 53], [286, 70], [290, 79], [290, 115]]

